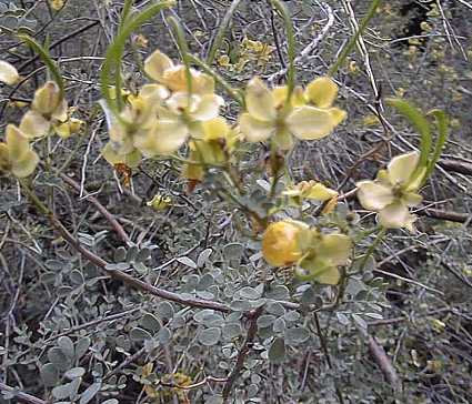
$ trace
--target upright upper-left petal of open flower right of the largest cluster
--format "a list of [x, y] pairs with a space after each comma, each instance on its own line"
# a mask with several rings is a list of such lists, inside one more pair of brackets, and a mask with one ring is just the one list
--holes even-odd
[[245, 108], [252, 118], [260, 121], [272, 121], [277, 117], [275, 99], [259, 78], [253, 78], [248, 84]]

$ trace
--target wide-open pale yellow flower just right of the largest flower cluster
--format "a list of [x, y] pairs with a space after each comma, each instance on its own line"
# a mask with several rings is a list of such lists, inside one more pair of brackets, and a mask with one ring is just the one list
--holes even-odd
[[287, 150], [293, 145], [292, 135], [301, 140], [314, 140], [331, 133], [345, 114], [341, 110], [328, 108], [330, 104], [327, 99], [332, 102], [335, 98], [332, 89], [323, 99], [318, 84], [315, 87], [312, 82], [305, 93], [309, 101], [319, 102], [321, 105], [303, 104], [297, 91], [287, 104], [287, 88], [275, 88], [271, 91], [259, 78], [252, 79], [245, 92], [248, 111], [239, 119], [244, 138], [249, 142], [261, 142], [274, 137], [278, 147]]

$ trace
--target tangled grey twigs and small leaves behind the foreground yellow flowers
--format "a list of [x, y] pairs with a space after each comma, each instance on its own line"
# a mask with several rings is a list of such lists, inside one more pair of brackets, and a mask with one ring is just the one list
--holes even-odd
[[[472, 402], [471, 2], [383, 2], [335, 78], [347, 121], [290, 154], [297, 181], [314, 179], [345, 194], [418, 145], [385, 97], [451, 117], [445, 152], [415, 212], [418, 230], [389, 232], [337, 310], [323, 306], [329, 287], [268, 271], [260, 241], [234, 205], [204, 184], [190, 192], [173, 161], [145, 161], [127, 184], [127, 173], [101, 159], [108, 135], [98, 79], [122, 1], [57, 3], [0, 1], [0, 54], [24, 78], [0, 88], [1, 125], [19, 120], [46, 78], [17, 37], [29, 32], [49, 44], [69, 102], [86, 122], [80, 134], [52, 140], [57, 170], [37, 173], [39, 193], [81, 245], [113, 263], [107, 271], [124, 271], [161, 294], [111, 279], [54, 232], [12, 179], [0, 179], [0, 402]], [[192, 52], [204, 55], [229, 6], [179, 0], [165, 16], [179, 17]], [[298, 79], [307, 83], [335, 62], [369, 2], [287, 6]], [[127, 48], [130, 89], [141, 83], [139, 67], [155, 48], [178, 58], [162, 18]], [[265, 1], [241, 1], [214, 69], [244, 87], [254, 74], [283, 81], [285, 64], [280, 17]], [[244, 154], [254, 209], [267, 186], [265, 158], [260, 147]], [[148, 206], [155, 194], [169, 196], [170, 206]], [[368, 223], [365, 213], [345, 199], [335, 214], [349, 225]], [[364, 238], [360, 248], [372, 242]]]

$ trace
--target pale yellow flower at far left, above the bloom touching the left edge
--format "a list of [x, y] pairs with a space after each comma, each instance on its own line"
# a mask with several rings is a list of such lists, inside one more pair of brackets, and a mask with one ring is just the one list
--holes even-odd
[[48, 81], [36, 91], [31, 110], [21, 119], [20, 130], [28, 138], [40, 138], [48, 134], [52, 124], [67, 119], [67, 101], [61, 97], [58, 84]]

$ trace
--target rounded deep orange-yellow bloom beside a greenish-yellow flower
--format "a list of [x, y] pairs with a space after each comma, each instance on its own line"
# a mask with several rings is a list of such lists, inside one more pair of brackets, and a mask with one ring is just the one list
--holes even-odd
[[262, 255], [272, 266], [292, 265], [303, 252], [300, 236], [308, 225], [303, 222], [285, 220], [269, 224], [262, 236]]

